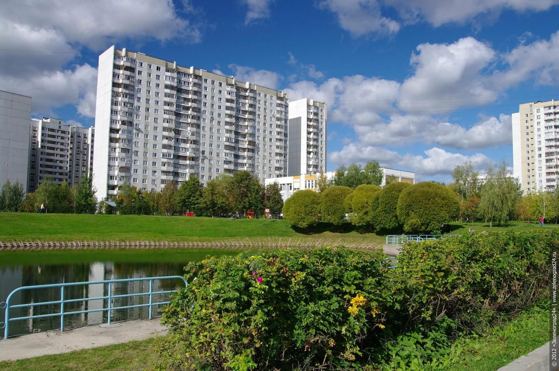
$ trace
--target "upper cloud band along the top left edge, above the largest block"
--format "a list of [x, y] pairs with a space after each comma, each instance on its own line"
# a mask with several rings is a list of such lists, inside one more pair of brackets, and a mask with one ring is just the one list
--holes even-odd
[[178, 35], [184, 41], [200, 41], [200, 30], [177, 15], [171, 0], [21, 0], [4, 2], [0, 19], [12, 25], [54, 31], [70, 44], [93, 49], [103, 49], [115, 38], [149, 37], [165, 41]]

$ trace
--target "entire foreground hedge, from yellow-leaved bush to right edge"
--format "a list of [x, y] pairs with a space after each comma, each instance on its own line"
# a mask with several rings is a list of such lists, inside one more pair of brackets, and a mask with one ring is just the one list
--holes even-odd
[[345, 248], [192, 262], [158, 368], [447, 369], [452, 336], [546, 296], [552, 246], [559, 230], [412, 243], [394, 269]]

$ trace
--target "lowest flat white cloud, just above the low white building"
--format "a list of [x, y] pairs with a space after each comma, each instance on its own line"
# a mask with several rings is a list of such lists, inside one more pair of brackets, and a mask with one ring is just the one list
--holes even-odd
[[494, 163], [489, 157], [482, 153], [472, 156], [461, 153], [451, 153], [441, 148], [433, 147], [424, 151], [426, 156], [405, 154], [400, 155], [396, 151], [387, 150], [382, 147], [367, 146], [359, 143], [351, 143], [344, 146], [341, 151], [331, 152], [328, 160], [336, 166], [351, 162], [364, 163], [377, 160], [381, 166], [409, 168], [418, 176], [450, 175], [456, 165], [465, 161], [471, 161], [476, 168], [485, 168]]

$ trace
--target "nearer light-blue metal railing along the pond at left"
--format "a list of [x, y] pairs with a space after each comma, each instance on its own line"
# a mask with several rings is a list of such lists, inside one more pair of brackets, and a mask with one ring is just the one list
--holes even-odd
[[[4, 327], [4, 339], [8, 338], [8, 331], [10, 329], [10, 321], [18, 321], [18, 320], [30, 320], [36, 318], [43, 318], [43, 317], [56, 317], [60, 316], [60, 331], [64, 331], [64, 316], [65, 315], [74, 315], [74, 314], [83, 314], [83, 313], [91, 313], [91, 312], [108, 312], [108, 320], [107, 323], [111, 324], [111, 312], [120, 309], [130, 309], [130, 308], [139, 308], [139, 307], [149, 307], [149, 319], [153, 317], [152, 308], [157, 305], [165, 305], [168, 304], [169, 301], [160, 301], [160, 302], [153, 302], [154, 295], [160, 294], [168, 294], [171, 292], [177, 292], [177, 290], [169, 290], [169, 291], [153, 291], [153, 281], [160, 281], [160, 280], [181, 280], [186, 287], [188, 283], [184, 280], [182, 276], [162, 276], [162, 277], [144, 277], [144, 278], [127, 278], [124, 280], [103, 280], [103, 281], [89, 281], [89, 282], [68, 282], [68, 283], [54, 283], [52, 285], [35, 285], [35, 286], [22, 286], [13, 290], [10, 295], [8, 295], [6, 302], [0, 303], [0, 308], [6, 308], [6, 316], [4, 322], [0, 322], [0, 329]], [[117, 282], [135, 282], [135, 281], [149, 281], [149, 291], [148, 292], [140, 292], [140, 293], [131, 293], [131, 294], [124, 294], [124, 295], [112, 295], [112, 284]], [[99, 285], [99, 284], [108, 284], [108, 295], [107, 296], [98, 296], [98, 297], [87, 297], [87, 298], [65, 298], [64, 297], [64, 287], [68, 286], [81, 286], [81, 285]], [[17, 305], [10, 305], [10, 299], [12, 296], [20, 291], [23, 290], [35, 290], [41, 288], [52, 288], [52, 287], [60, 287], [60, 300], [55, 301], [45, 301], [40, 303], [27, 303], [27, 304], [17, 304]], [[136, 297], [136, 296], [148, 296], [149, 295], [149, 303], [145, 304], [138, 304], [138, 305], [127, 305], [127, 306], [120, 306], [120, 307], [113, 307], [111, 304], [111, 300], [113, 298], [124, 298], [124, 297]], [[64, 311], [64, 303], [73, 303], [73, 302], [86, 302], [92, 300], [107, 300], [107, 307], [103, 307], [100, 309], [90, 309], [90, 310], [79, 310], [79, 311]], [[23, 317], [13, 317], [10, 318], [10, 309], [13, 308], [24, 308], [24, 307], [34, 307], [39, 305], [53, 305], [53, 304], [60, 304], [60, 312], [58, 313], [49, 313], [49, 314], [41, 314], [41, 315], [31, 315], [31, 316], [23, 316]]]

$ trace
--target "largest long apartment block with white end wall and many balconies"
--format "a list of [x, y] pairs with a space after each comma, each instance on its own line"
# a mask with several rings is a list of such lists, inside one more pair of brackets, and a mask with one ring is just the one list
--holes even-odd
[[93, 184], [113, 197], [248, 170], [287, 175], [288, 94], [111, 46], [99, 57]]

